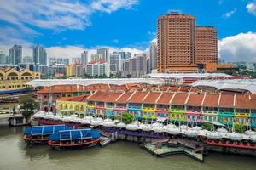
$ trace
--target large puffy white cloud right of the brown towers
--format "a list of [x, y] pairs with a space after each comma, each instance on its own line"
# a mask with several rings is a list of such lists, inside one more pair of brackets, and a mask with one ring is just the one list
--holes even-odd
[[218, 41], [218, 54], [226, 61], [256, 61], [256, 33], [240, 33]]

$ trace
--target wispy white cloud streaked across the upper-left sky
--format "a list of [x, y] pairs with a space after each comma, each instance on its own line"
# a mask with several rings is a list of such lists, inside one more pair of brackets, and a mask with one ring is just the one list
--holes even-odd
[[15, 41], [12, 40], [15, 39], [31, 42], [28, 38], [40, 35], [34, 28], [54, 31], [84, 30], [91, 26], [91, 14], [110, 14], [120, 8], [132, 8], [137, 2], [138, 0], [90, 0], [87, 3], [80, 0], [0, 1], [0, 20], [8, 23], [8, 29], [0, 26], [0, 43], [13, 43]]

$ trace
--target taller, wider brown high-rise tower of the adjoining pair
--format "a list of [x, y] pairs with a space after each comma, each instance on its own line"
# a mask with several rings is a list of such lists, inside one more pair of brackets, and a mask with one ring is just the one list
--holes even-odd
[[194, 16], [177, 12], [160, 16], [157, 44], [159, 72], [197, 70]]

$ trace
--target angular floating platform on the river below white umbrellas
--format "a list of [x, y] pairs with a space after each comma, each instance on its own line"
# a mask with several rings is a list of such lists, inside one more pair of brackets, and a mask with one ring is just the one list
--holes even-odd
[[163, 157], [163, 156], [171, 156], [171, 155], [177, 155], [177, 154], [184, 154], [186, 156], [189, 156], [196, 161], [203, 162], [204, 157], [202, 153], [195, 153], [194, 150], [189, 150], [184, 147], [170, 147], [163, 145], [160, 148], [157, 148], [155, 144], [146, 143], [143, 144], [143, 149], [147, 150], [149, 153], [151, 153], [153, 156], [156, 157]]

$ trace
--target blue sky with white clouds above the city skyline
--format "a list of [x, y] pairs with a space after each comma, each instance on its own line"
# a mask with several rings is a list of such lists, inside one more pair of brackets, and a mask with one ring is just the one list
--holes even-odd
[[41, 44], [49, 57], [79, 57], [109, 47], [145, 51], [161, 14], [196, 17], [218, 30], [218, 57], [256, 61], [256, 0], [0, 0], [0, 51], [21, 44], [32, 56]]

